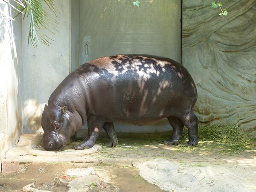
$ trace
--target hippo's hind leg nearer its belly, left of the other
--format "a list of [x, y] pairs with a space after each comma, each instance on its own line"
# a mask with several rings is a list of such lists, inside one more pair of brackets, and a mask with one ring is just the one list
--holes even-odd
[[178, 145], [179, 140], [181, 139], [184, 125], [180, 119], [178, 119], [177, 117], [174, 117], [174, 116], [168, 117], [168, 121], [169, 121], [170, 125], [172, 126], [172, 136], [171, 136], [171, 139], [165, 140], [164, 144], [165, 145]]

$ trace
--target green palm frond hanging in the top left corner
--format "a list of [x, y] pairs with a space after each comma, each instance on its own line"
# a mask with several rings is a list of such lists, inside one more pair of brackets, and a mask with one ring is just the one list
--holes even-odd
[[[33, 47], [37, 47], [39, 41], [49, 45], [53, 41], [42, 31], [43, 28], [47, 31], [55, 34], [57, 32], [56, 28], [58, 26], [58, 11], [55, 8], [53, 0], [3, 0], [5, 3], [9, 4], [17, 14], [12, 18], [6, 15], [0, 10], [0, 16], [15, 20], [17, 16], [23, 14], [23, 19], [29, 18], [29, 37], [28, 43], [31, 43]], [[15, 6], [13, 5], [15, 3]], [[50, 12], [49, 12], [50, 11]], [[52, 30], [53, 29], [53, 30]]]

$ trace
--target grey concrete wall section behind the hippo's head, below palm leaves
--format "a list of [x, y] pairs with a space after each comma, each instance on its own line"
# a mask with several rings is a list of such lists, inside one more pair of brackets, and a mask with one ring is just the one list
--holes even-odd
[[22, 22], [23, 42], [23, 133], [42, 131], [41, 113], [50, 94], [70, 73], [70, 0], [55, 0], [58, 9], [58, 34], [47, 31], [51, 45], [40, 44], [37, 49], [28, 45], [28, 24]]

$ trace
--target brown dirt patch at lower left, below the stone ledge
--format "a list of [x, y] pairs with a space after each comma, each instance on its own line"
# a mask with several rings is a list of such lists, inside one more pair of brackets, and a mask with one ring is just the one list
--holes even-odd
[[[81, 185], [88, 186], [89, 191], [121, 191], [121, 192], [162, 192], [157, 186], [146, 182], [139, 176], [136, 168], [120, 168], [112, 166], [95, 166], [88, 163], [35, 163], [29, 164], [26, 172], [0, 175], [0, 191], [21, 191], [30, 183], [35, 183], [35, 189], [48, 190], [53, 192], [67, 192], [70, 188], [65, 183], [72, 182], [78, 177], [66, 175], [68, 169], [93, 167], [94, 170], [106, 172], [107, 182], [96, 179], [83, 179]], [[40, 169], [41, 168], [41, 169]], [[42, 169], [44, 171], [42, 171]], [[92, 175], [88, 175], [92, 177]], [[64, 181], [64, 183], [59, 182]], [[90, 188], [91, 187], [91, 188]], [[84, 188], [86, 189], [86, 188]]]

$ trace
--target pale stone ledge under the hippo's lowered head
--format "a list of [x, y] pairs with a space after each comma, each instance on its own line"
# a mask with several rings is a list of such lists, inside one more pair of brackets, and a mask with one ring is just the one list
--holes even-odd
[[3, 172], [19, 170], [22, 168], [20, 163], [97, 163], [90, 154], [102, 150], [100, 145], [84, 150], [74, 150], [71, 145], [67, 145], [62, 151], [45, 151], [40, 145], [41, 137], [41, 134], [22, 134], [17, 145], [7, 151], [2, 162]]

